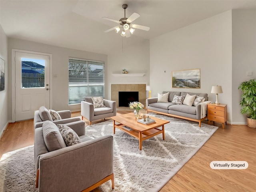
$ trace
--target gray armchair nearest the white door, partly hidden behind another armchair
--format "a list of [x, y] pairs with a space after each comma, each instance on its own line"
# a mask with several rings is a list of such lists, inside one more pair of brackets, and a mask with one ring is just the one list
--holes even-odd
[[61, 117], [61, 120], [52, 120], [50, 112], [44, 106], [34, 112], [34, 128], [42, 127], [44, 121], [49, 120], [54, 124], [66, 124], [70, 122], [80, 121], [80, 117], [71, 117], [70, 110], [57, 111]]

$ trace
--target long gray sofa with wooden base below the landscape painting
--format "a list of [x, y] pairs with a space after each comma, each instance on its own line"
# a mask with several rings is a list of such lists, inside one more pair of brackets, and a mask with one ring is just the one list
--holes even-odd
[[[146, 110], [147, 112], [155, 112], [159, 114], [164, 114], [168, 116], [183, 118], [186, 120], [192, 120], [199, 123], [199, 127], [201, 127], [201, 121], [207, 118], [207, 116], [202, 117], [202, 105], [206, 106], [208, 101], [207, 93], [191, 93], [191, 92], [162, 92], [163, 94], [169, 93], [168, 102], [157, 102], [158, 98], [147, 98], [146, 99]], [[174, 104], [172, 100], [174, 95], [177, 96], [186, 96], [197, 95], [200, 97], [204, 97], [204, 102], [199, 103], [196, 106], [188, 106], [184, 104]]]

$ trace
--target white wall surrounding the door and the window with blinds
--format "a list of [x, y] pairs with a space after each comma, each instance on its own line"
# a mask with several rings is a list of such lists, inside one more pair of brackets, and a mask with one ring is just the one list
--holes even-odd
[[[11, 61], [11, 50], [21, 49], [30, 50], [35, 52], [44, 52], [52, 54], [52, 75], [57, 74], [57, 77], [52, 77], [52, 109], [54, 110], [80, 110], [80, 104], [78, 105], [68, 105], [68, 58], [84, 58], [89, 60], [100, 60], [104, 61], [106, 68], [108, 66], [107, 55], [97, 54], [92, 52], [62, 48], [57, 46], [50, 46], [46, 44], [20, 40], [15, 38], [10, 38], [8, 42], [8, 60]], [[9, 62], [10, 69], [8, 74], [11, 82], [11, 63]], [[8, 84], [11, 90], [11, 84]], [[106, 88], [106, 95], [108, 94]], [[11, 94], [10, 94], [11, 96]], [[10, 101], [11, 102], [11, 101]], [[9, 118], [10, 119], [10, 118]]]

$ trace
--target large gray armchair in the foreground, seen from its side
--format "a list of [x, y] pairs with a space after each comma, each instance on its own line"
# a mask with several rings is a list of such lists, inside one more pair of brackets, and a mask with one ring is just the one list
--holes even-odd
[[86, 136], [84, 121], [66, 125], [76, 132], [80, 143], [65, 146], [58, 127], [50, 121], [34, 130], [36, 187], [39, 192], [89, 192], [107, 180], [112, 180], [113, 189], [113, 136], [95, 139]]

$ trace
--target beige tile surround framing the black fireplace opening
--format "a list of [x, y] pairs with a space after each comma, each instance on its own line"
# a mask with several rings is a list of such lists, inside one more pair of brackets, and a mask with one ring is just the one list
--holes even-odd
[[146, 84], [111, 84], [111, 100], [118, 105], [118, 92], [119, 91], [138, 91], [139, 102], [146, 106]]

